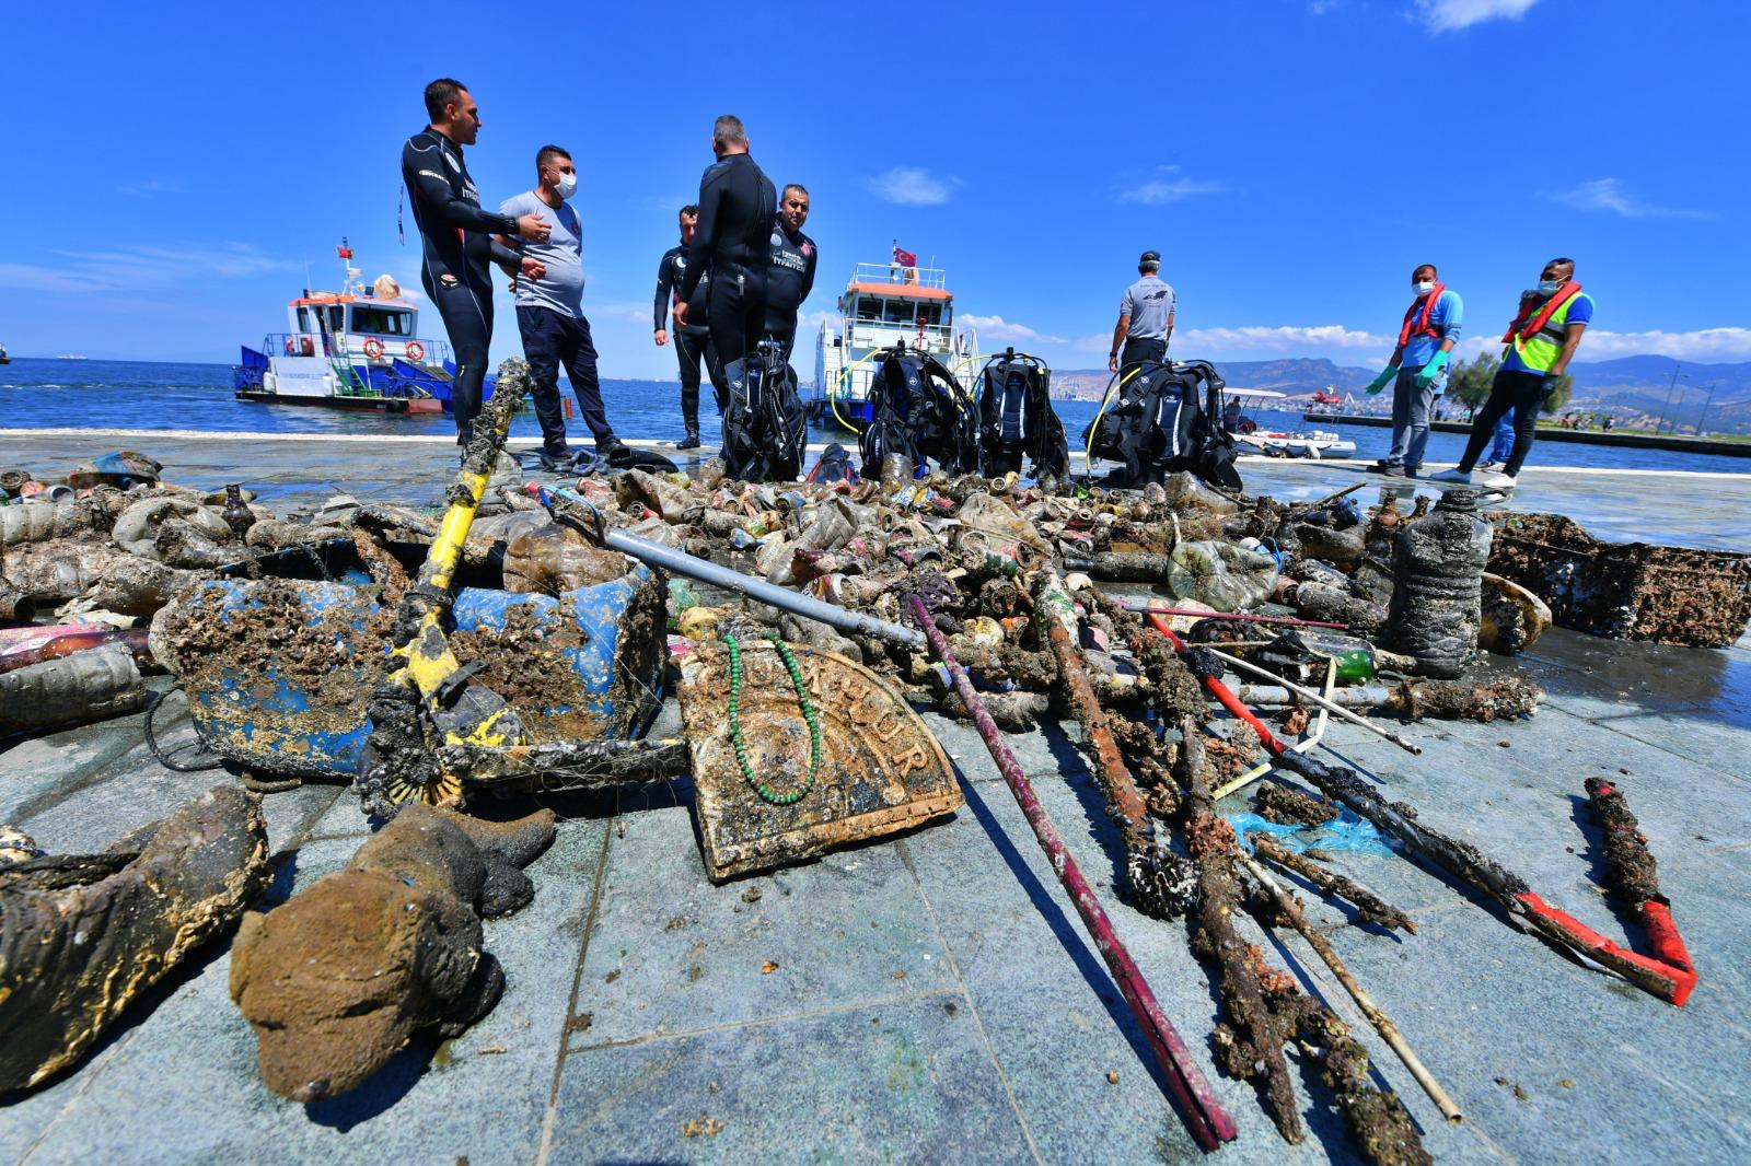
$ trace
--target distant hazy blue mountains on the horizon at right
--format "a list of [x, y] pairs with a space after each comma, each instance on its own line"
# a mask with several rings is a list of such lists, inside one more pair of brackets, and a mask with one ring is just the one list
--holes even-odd
[[[1229, 389], [1269, 389], [1290, 397], [1311, 396], [1327, 387], [1334, 387], [1340, 394], [1361, 394], [1380, 373], [1378, 366], [1357, 368], [1306, 357], [1224, 361], [1217, 368]], [[1679, 373], [1676, 390], [1674, 369]], [[1698, 364], [1663, 355], [1632, 355], [1614, 361], [1576, 361], [1569, 371], [1574, 373], [1572, 401], [1578, 408], [1611, 411], [1625, 420], [1637, 415], [1658, 418], [1663, 413], [1679, 427], [1690, 427], [1707, 406], [1709, 429], [1751, 431], [1751, 362]], [[1098, 401], [1108, 380], [1107, 369], [1052, 369], [1052, 396]]]

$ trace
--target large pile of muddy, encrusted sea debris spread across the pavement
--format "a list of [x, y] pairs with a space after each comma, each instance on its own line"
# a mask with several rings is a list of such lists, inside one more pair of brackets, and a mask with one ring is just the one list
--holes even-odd
[[[1234, 1136], [1233, 1119], [1117, 944], [1000, 727], [1024, 732], [1054, 709], [1077, 721], [1124, 847], [1122, 896], [1154, 919], [1187, 921], [1222, 1001], [1219, 1064], [1259, 1084], [1289, 1141], [1304, 1134], [1289, 1073], [1299, 1061], [1359, 1154], [1429, 1161], [1348, 1028], [1266, 963], [1271, 928], [1303, 935], [1441, 1112], [1457, 1120], [1459, 1110], [1276, 879], [1289, 872], [1357, 924], [1415, 935], [1417, 923], [1317, 854], [1250, 826], [1236, 835], [1219, 812], [1222, 797], [1271, 767], [1278, 779], [1257, 795], [1262, 823], [1361, 825], [1672, 1003], [1695, 982], [1614, 788], [1590, 783], [1593, 807], [1618, 889], [1649, 930], [1665, 928], [1658, 958], [1586, 931], [1413, 807], [1303, 751], [1327, 718], [1418, 753], [1375, 718], [1530, 716], [1537, 686], [1513, 665], [1476, 669], [1474, 657], [1522, 651], [1551, 611], [1576, 618], [1579, 601], [1544, 609], [1548, 579], [1530, 578], [1544, 560], [1525, 548], [1550, 550], [1537, 541], [1555, 537], [1550, 523], [1509, 520], [1492, 551], [1492, 527], [1467, 492], [1404, 513], [1389, 495], [1359, 506], [1355, 487], [1280, 502], [1185, 473], [1140, 490], [1058, 474], [1042, 488], [1014, 471], [776, 485], [730, 480], [707, 460], [693, 474], [632, 467], [490, 488], [494, 467], [508, 469], [497, 460], [510, 417], [499, 401], [517, 399], [506, 383], [515, 380], [501, 380], [476, 425], [441, 520], [352, 499], [282, 516], [250, 506], [240, 487], [165, 485], [161, 466], [123, 453], [74, 474], [84, 485], [70, 499], [0, 508], [0, 618], [151, 618], [145, 644], [138, 629], [117, 639], [86, 623], [12, 646], [0, 636], [0, 693], [32, 693], [35, 718], [0, 728], [138, 709], [140, 662], [161, 660], [221, 756], [259, 774], [355, 777], [362, 809], [389, 821], [347, 870], [250, 914], [236, 937], [231, 996], [277, 1094], [315, 1101], [354, 1089], [415, 1031], [455, 1033], [494, 1005], [503, 973], [482, 947], [480, 917], [529, 902], [520, 868], [555, 826], [550, 812], [506, 826], [464, 816], [482, 790], [692, 772], [706, 870], [730, 879], [960, 805], [953, 767], [907, 700], [979, 728], [1210, 1148]], [[504, 485], [520, 478], [504, 473]], [[1742, 601], [1751, 567], [1728, 558], [1711, 569], [1737, 579]], [[1630, 623], [1651, 618], [1635, 608]], [[641, 739], [665, 681], [678, 685], [685, 739]], [[1308, 735], [1280, 739], [1250, 706], [1282, 709], [1283, 737]], [[245, 818], [256, 814], [247, 807]], [[252, 823], [259, 830], [259, 814]], [[124, 895], [158, 840], [86, 860], [30, 856], [28, 839], [0, 844], [0, 863], [25, 856], [0, 867], [0, 973], [28, 986], [42, 979], [32, 970], [42, 958], [12, 954], [30, 931], [11, 912], [28, 907], [18, 917], [40, 931], [79, 907], [54, 895]], [[228, 860], [224, 893], [200, 898], [201, 926], [184, 926], [179, 942], [212, 935], [259, 891], [254, 851]], [[44, 865], [54, 861], [82, 874]], [[191, 884], [187, 895], [207, 891]], [[130, 916], [140, 935], [128, 942], [165, 947], [152, 921], [177, 909]], [[180, 951], [142, 966], [168, 966]], [[341, 973], [350, 966], [382, 972], [359, 980]], [[105, 993], [86, 1010], [95, 1021], [79, 1021], [79, 1008], [54, 1012], [68, 1015], [53, 1031], [32, 1021], [42, 1054], [16, 1084], [75, 1059], [131, 991]], [[0, 991], [0, 1008], [25, 998]], [[21, 1014], [0, 1010], [0, 1021], [9, 1015]]]

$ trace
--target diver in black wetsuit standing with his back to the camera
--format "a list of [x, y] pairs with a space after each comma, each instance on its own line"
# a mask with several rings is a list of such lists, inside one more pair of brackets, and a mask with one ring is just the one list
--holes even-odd
[[690, 301], [700, 275], [711, 268], [706, 322], [718, 361], [728, 366], [751, 355], [765, 331], [765, 277], [777, 191], [748, 156], [741, 117], [718, 117], [711, 128], [711, 152], [718, 161], [699, 180], [699, 224], [686, 249], [674, 320], [697, 322]]

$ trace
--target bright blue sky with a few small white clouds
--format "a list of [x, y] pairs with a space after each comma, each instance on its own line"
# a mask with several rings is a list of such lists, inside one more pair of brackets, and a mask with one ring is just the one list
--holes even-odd
[[[1751, 359], [1742, 2], [728, 11], [16, 5], [0, 341], [233, 361], [284, 327], [306, 263], [336, 284], [341, 235], [368, 278], [417, 289], [399, 151], [448, 74], [480, 102], [489, 201], [531, 186], [543, 142], [574, 154], [609, 376], [674, 376], [657, 257], [725, 110], [812, 193], [816, 317], [898, 238], [986, 348], [1091, 368], [1154, 247], [1178, 355], [1380, 364], [1413, 264], [1464, 294], [1473, 350], [1569, 254], [1599, 303], [1581, 359]], [[711, 68], [725, 28], [746, 40]], [[517, 347], [501, 312], [494, 352]]]

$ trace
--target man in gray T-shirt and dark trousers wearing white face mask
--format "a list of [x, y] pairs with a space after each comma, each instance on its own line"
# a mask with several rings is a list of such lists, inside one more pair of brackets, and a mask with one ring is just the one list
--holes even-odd
[[571, 154], [557, 145], [536, 152], [536, 189], [515, 194], [499, 207], [506, 215], [538, 215], [552, 229], [545, 243], [524, 243], [524, 254], [546, 268], [539, 278], [517, 280], [517, 327], [529, 359], [529, 396], [541, 422], [541, 453], [559, 460], [566, 448], [566, 418], [560, 415], [559, 366], [571, 376], [583, 424], [595, 436], [595, 452], [625, 459], [629, 450], [615, 436], [602, 410], [602, 385], [595, 375], [595, 345], [590, 320], [583, 317], [583, 231], [578, 212], [566, 200], [578, 189]]

